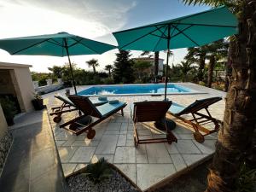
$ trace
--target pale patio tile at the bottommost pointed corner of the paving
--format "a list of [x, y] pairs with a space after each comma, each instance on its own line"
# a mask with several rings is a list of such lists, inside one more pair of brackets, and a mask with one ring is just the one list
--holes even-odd
[[173, 164], [137, 164], [137, 185], [148, 189], [175, 172]]

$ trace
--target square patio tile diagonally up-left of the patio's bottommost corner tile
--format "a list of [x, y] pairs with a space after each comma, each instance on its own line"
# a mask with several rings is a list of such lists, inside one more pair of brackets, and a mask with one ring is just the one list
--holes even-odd
[[113, 163], [136, 163], [135, 153], [135, 148], [117, 147]]

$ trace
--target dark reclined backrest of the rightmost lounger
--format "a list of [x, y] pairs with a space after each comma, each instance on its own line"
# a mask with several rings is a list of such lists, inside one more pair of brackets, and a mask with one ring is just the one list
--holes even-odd
[[177, 115], [187, 114], [187, 113], [196, 113], [201, 109], [207, 108], [215, 102], [222, 100], [221, 97], [211, 97], [207, 99], [195, 100], [192, 104], [190, 104], [187, 108], [184, 108]]

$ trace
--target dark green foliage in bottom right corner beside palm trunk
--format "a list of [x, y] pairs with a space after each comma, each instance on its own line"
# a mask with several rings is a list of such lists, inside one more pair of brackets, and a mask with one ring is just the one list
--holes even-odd
[[256, 189], [256, 169], [251, 169], [246, 163], [241, 166], [238, 182], [238, 192], [253, 192]]

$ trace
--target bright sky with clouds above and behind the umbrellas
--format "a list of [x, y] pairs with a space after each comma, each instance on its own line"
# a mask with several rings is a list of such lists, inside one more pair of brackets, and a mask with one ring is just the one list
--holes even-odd
[[[187, 6], [182, 0], [0, 0], [0, 38], [15, 38], [69, 32], [84, 38], [117, 45], [112, 32], [143, 26], [209, 9]], [[72, 56], [71, 61], [85, 70], [86, 61], [99, 61], [98, 71], [113, 64], [117, 49], [102, 55]], [[132, 57], [141, 54], [131, 51]], [[186, 49], [173, 50], [175, 64], [183, 61]], [[166, 59], [161, 52], [160, 58]], [[0, 49], [0, 61], [32, 65], [31, 71], [49, 72], [48, 67], [61, 66], [67, 57], [9, 55]]]

